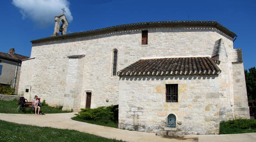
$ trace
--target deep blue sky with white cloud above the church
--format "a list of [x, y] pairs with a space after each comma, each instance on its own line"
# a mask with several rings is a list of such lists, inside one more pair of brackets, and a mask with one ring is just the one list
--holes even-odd
[[1, 0], [0, 52], [15, 48], [30, 56], [30, 41], [52, 35], [62, 7], [68, 33], [146, 21], [218, 21], [238, 35], [234, 49], [242, 49], [244, 68], [256, 66], [255, 0]]

